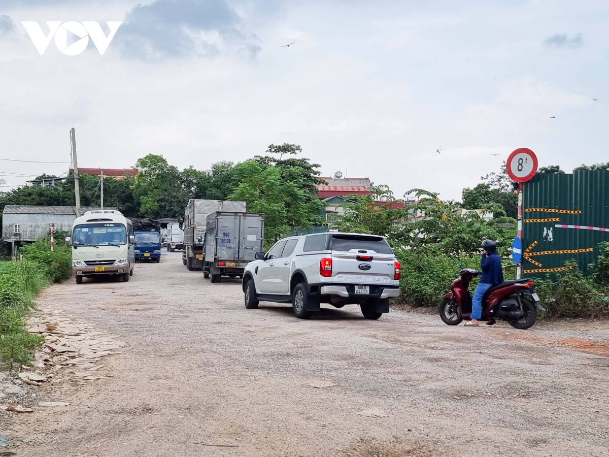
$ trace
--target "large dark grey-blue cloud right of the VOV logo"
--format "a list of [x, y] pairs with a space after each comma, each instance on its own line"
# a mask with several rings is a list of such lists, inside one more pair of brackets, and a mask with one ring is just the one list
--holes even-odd
[[258, 38], [241, 27], [241, 18], [225, 0], [157, 0], [130, 10], [116, 38], [124, 55], [144, 60], [255, 57]]

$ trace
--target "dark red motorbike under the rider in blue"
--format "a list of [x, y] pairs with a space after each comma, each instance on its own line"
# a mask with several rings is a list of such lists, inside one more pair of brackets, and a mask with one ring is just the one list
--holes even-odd
[[[464, 269], [451, 284], [451, 291], [440, 304], [440, 318], [445, 324], [458, 325], [463, 319], [471, 320], [472, 278], [481, 272]], [[533, 289], [532, 279], [502, 282], [488, 289], [482, 299], [482, 319], [503, 319], [514, 328], [529, 328], [537, 321], [537, 310], [544, 311], [539, 296]]]

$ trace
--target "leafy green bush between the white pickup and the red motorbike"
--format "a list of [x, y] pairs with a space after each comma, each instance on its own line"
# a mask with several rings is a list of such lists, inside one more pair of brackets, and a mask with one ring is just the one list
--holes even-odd
[[436, 246], [394, 252], [401, 266], [401, 297], [414, 306], [437, 306], [461, 267], [480, 268], [479, 255], [447, 255]]

